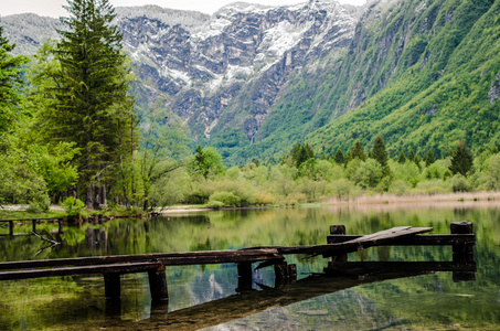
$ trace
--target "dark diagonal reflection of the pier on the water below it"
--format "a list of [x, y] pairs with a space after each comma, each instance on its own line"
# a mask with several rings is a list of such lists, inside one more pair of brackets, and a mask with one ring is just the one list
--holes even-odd
[[[321, 275], [297, 280], [294, 284], [277, 282], [274, 288], [262, 286], [262, 290], [243, 290], [220, 300], [190, 308], [168, 311], [168, 305], [152, 305], [150, 318], [134, 324], [137, 329], [175, 328], [175, 330], [200, 330], [208, 327], [242, 319], [265, 310], [285, 307], [299, 301], [345, 290], [359, 285], [434, 274], [436, 271], [474, 273], [476, 265], [462, 263], [347, 263], [351, 275]], [[348, 267], [344, 265], [343, 267]], [[362, 276], [355, 275], [362, 271]], [[240, 289], [241, 285], [238, 286]], [[237, 289], [237, 290], [238, 290]], [[117, 306], [118, 305], [118, 306]], [[113, 314], [113, 312], [116, 314]], [[107, 320], [113, 318], [120, 329], [119, 302], [108, 302]], [[124, 324], [125, 325], [125, 324]], [[143, 328], [142, 328], [143, 327]]]

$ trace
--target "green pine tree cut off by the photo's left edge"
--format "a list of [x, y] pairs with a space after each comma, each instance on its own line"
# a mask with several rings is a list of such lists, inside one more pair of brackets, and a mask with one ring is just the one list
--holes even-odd
[[3, 26], [0, 25], [0, 143], [15, 120], [20, 88], [23, 86], [22, 65], [28, 63], [24, 56], [9, 54], [14, 47], [3, 36]]

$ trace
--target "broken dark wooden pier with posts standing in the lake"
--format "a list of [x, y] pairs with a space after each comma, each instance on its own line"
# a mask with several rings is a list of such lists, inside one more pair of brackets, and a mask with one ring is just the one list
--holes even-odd
[[[454, 271], [455, 280], [474, 279], [475, 235], [472, 224], [453, 223], [450, 235], [419, 235], [433, 231], [432, 227], [400, 226], [365, 236], [347, 236], [345, 227], [333, 225], [326, 245], [276, 246], [240, 250], [206, 250], [146, 255], [102, 256], [65, 258], [52, 260], [11, 261], [0, 264], [0, 280], [25, 279], [85, 274], [103, 274], [107, 299], [120, 298], [123, 274], [143, 273], [149, 275], [153, 301], [168, 300], [166, 267], [205, 264], [237, 264], [238, 289], [252, 289], [252, 264], [257, 268], [274, 266], [276, 281], [294, 281], [297, 277], [295, 265], [287, 265], [285, 255], [309, 254], [332, 257], [326, 269], [328, 274], [355, 277], [382, 277], [389, 279], [433, 271]], [[381, 245], [451, 245], [453, 263], [370, 263], [347, 261], [347, 254]], [[390, 276], [392, 275], [392, 276]], [[401, 276], [405, 275], [405, 276]]]

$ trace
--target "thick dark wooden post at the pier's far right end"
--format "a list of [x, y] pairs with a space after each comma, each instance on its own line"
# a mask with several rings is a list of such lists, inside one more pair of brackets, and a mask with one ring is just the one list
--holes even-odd
[[[449, 225], [451, 234], [474, 234], [471, 222], [454, 222]], [[474, 264], [474, 244], [453, 245], [453, 261], [460, 264]], [[475, 273], [457, 271], [453, 274], [455, 282], [476, 280]]]

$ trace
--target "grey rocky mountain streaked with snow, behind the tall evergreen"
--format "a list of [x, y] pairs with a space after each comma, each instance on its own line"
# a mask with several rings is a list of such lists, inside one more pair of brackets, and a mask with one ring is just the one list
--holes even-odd
[[[326, 57], [340, 54], [360, 14], [336, 0], [281, 7], [236, 2], [213, 15], [146, 6], [117, 8], [117, 24], [142, 83], [139, 104], [164, 98], [195, 141], [231, 128], [253, 142], [290, 75], [318, 70]], [[44, 35], [56, 38], [61, 28], [57, 20], [33, 14], [1, 22], [24, 54], [34, 53]]]

